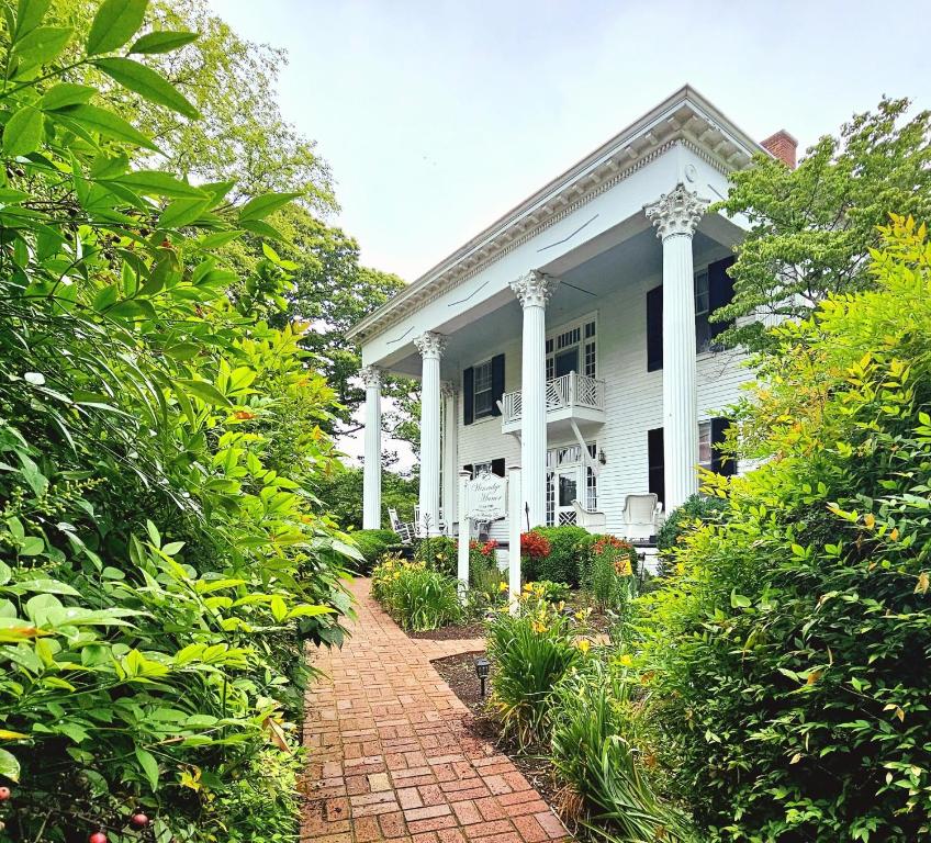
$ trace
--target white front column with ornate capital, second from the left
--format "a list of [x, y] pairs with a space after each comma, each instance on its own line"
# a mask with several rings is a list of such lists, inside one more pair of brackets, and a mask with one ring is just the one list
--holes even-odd
[[420, 378], [420, 536], [439, 535], [439, 360], [446, 337], [428, 330], [414, 340], [423, 361]]

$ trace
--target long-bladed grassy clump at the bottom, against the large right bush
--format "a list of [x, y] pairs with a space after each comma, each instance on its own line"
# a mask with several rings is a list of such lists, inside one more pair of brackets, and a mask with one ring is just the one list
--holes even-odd
[[583, 802], [588, 828], [610, 841], [692, 840], [655, 795], [639, 750], [635, 679], [596, 657], [557, 685], [551, 757]]

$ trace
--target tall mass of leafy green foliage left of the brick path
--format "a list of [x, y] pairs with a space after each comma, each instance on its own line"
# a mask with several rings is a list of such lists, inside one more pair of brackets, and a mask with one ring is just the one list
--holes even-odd
[[192, 34], [141, 33], [146, 0], [80, 32], [48, 7], [0, 2], [2, 820], [119, 843], [142, 808], [159, 842], [284, 840], [302, 642], [341, 641], [355, 551], [306, 491], [334, 395], [304, 326], [227, 295], [273, 300], [291, 265], [220, 256], [293, 194], [153, 168], [159, 143], [89, 83], [194, 120], [147, 58]]

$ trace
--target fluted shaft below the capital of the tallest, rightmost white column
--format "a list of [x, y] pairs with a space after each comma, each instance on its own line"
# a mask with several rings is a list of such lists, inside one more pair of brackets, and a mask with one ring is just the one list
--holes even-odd
[[663, 460], [665, 509], [698, 491], [692, 235], [663, 239]]

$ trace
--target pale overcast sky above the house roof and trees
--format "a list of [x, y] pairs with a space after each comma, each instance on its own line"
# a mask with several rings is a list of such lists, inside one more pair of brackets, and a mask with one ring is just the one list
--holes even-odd
[[284, 47], [285, 117], [369, 265], [414, 280], [685, 82], [807, 146], [885, 92], [931, 106], [928, 3], [211, 0]]

